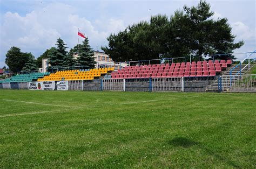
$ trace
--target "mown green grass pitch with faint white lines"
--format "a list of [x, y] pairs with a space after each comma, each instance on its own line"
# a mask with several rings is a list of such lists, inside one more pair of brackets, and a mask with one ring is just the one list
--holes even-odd
[[0, 168], [256, 164], [256, 94], [0, 90]]

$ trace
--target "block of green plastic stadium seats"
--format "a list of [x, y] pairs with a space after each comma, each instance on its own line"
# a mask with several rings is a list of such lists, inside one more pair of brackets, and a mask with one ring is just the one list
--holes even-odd
[[45, 75], [50, 73], [29, 73], [29, 74], [17, 74], [11, 78], [2, 80], [1, 82], [31, 82], [36, 81], [38, 78], [43, 78]]

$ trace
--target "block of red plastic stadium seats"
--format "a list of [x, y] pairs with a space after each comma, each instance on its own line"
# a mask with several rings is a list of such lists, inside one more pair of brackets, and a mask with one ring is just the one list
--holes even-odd
[[112, 72], [112, 79], [138, 79], [138, 78], [169, 78], [169, 77], [206, 77], [221, 73], [232, 64], [232, 60], [209, 60], [158, 64], [127, 66]]

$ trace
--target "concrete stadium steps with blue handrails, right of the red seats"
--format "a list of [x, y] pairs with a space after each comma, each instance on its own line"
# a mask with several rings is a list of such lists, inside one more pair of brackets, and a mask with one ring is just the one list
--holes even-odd
[[[222, 75], [230, 75], [230, 70], [232, 68], [234, 68], [235, 66], [237, 65], [233, 65], [232, 67], [228, 68], [227, 71], [225, 71]], [[244, 68], [246, 65], [245, 64], [242, 64], [241, 65], [241, 68]], [[253, 67], [254, 65], [251, 66], [251, 68]], [[232, 75], [235, 75], [237, 74], [238, 72], [240, 71], [240, 67], [236, 67], [233, 69], [232, 71]], [[241, 74], [246, 74], [246, 72], [248, 72], [249, 70], [248, 69], [244, 69]], [[234, 80], [238, 80], [238, 78], [233, 78]], [[224, 91], [228, 91], [228, 85], [230, 84], [230, 80], [229, 79], [225, 79], [223, 80], [223, 90]], [[218, 91], [218, 79], [215, 80], [209, 87], [206, 88], [206, 91], [209, 91], [209, 92], [216, 92]]]

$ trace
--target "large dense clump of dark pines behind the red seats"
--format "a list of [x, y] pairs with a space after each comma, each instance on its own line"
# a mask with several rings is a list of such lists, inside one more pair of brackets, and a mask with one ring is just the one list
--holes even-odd
[[234, 43], [227, 18], [214, 20], [210, 8], [210, 4], [200, 1], [191, 8], [185, 5], [171, 17], [153, 16], [149, 22], [142, 21], [111, 34], [107, 38], [109, 45], [102, 50], [117, 62], [232, 53], [244, 42]]

